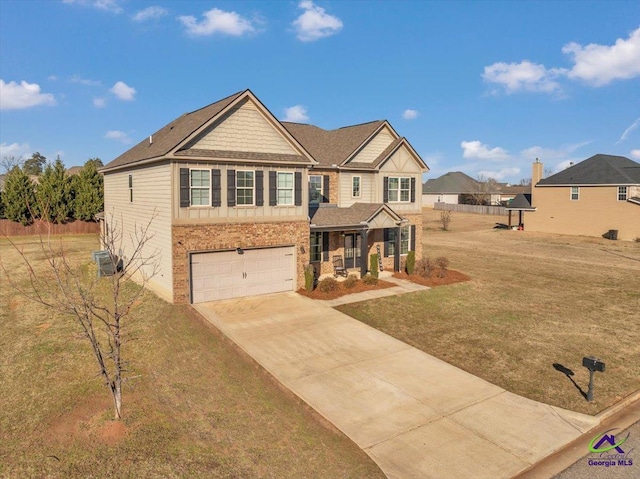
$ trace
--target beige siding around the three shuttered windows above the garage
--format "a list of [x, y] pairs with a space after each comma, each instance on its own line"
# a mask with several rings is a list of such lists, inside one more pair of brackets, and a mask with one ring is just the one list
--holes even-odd
[[[219, 169], [221, 183], [221, 206], [190, 206], [180, 207], [180, 168], [189, 169]], [[227, 170], [232, 169], [236, 174], [240, 170], [263, 171], [264, 204], [255, 206], [255, 187], [253, 191], [254, 206], [227, 206]], [[306, 168], [275, 166], [241, 166], [231, 164], [212, 164], [209, 162], [189, 162], [174, 163], [173, 167], [173, 218], [177, 223], [238, 223], [238, 222], [272, 222], [272, 221], [295, 221], [306, 219], [309, 215], [309, 180]], [[302, 173], [302, 205], [301, 206], [269, 206], [269, 171]], [[255, 178], [255, 177], [254, 177]], [[295, 187], [294, 187], [295, 196]], [[209, 194], [211, 200], [211, 194]], [[209, 201], [211, 204], [211, 201]]]

